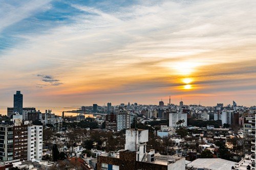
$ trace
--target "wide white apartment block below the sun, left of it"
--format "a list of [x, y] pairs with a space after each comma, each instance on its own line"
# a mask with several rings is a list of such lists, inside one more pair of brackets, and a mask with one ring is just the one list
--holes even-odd
[[179, 112], [170, 112], [169, 113], [169, 127], [174, 128], [178, 127], [177, 122], [179, 120], [184, 120], [184, 123], [180, 126], [187, 126], [187, 113], [179, 113]]

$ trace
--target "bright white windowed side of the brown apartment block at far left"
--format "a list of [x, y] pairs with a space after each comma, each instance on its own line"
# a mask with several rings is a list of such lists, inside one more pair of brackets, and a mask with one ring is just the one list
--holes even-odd
[[42, 159], [42, 126], [28, 126], [28, 160]]

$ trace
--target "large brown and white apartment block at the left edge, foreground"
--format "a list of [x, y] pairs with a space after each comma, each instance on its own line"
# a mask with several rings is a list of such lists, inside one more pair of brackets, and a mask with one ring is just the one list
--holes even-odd
[[0, 123], [0, 160], [5, 164], [41, 160], [42, 126], [23, 122], [17, 113], [12, 117], [12, 122]]

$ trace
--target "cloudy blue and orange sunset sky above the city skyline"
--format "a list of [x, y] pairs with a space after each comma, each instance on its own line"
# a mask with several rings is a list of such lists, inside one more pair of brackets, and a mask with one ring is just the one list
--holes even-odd
[[0, 106], [255, 105], [256, 1], [0, 4]]

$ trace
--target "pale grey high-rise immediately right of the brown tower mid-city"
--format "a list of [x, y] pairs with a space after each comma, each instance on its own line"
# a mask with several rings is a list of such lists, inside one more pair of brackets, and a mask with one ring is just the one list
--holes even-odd
[[117, 113], [117, 131], [131, 128], [130, 114], [123, 108]]

